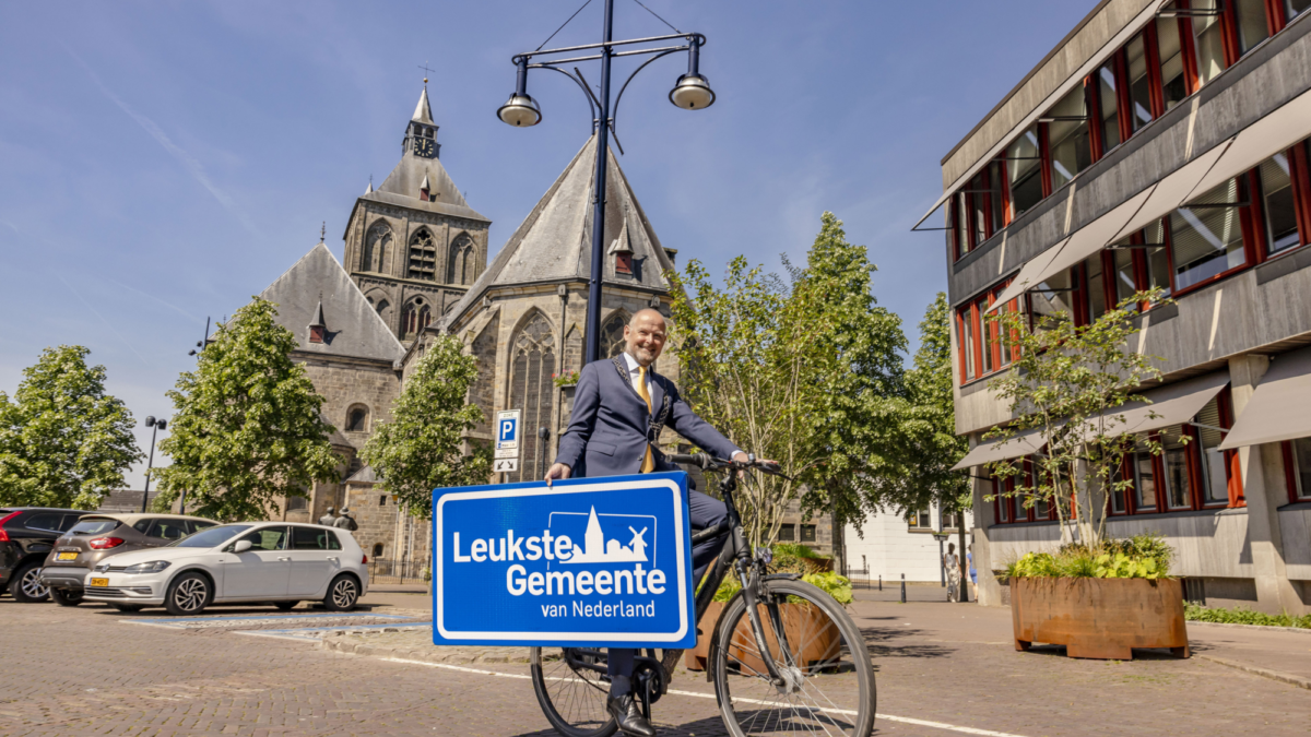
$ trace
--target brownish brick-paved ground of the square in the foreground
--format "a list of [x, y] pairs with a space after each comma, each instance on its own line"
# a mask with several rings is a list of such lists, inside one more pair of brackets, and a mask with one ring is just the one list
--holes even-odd
[[[384, 607], [366, 614], [384, 612], [426, 615]], [[271, 607], [210, 614], [267, 615], [275, 627], [246, 622], [292, 627], [273, 620], [282, 612]], [[1202, 658], [1016, 653], [996, 636], [995, 623], [1008, 612], [960, 605], [857, 602], [855, 614], [878, 667], [878, 711], [888, 715], [878, 734], [1231, 737], [1306, 734], [1311, 724], [1307, 691]], [[396, 662], [325, 650], [317, 641], [237, 636], [239, 626], [140, 627], [126, 619], [166, 618], [0, 598], [0, 734], [553, 734], [519, 662]], [[396, 622], [361, 616], [334, 631]], [[366, 637], [413, 643], [404, 632]], [[673, 687], [709, 694], [701, 677], [679, 674]], [[724, 733], [711, 698], [671, 694], [656, 704], [656, 716], [661, 734]]]

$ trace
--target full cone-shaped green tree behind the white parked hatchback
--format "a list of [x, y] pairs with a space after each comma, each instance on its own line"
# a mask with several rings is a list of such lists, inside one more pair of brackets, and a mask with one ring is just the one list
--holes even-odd
[[168, 392], [177, 412], [160, 450], [172, 466], [155, 471], [165, 504], [186, 492], [197, 514], [262, 519], [279, 511], [278, 498], [340, 480], [341, 458], [328, 442], [333, 428], [320, 414], [324, 397], [291, 361], [296, 338], [277, 313], [254, 298]]

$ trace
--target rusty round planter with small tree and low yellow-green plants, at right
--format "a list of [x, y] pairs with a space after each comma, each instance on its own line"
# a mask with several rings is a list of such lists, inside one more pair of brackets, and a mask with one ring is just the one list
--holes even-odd
[[990, 388], [1011, 400], [1016, 420], [985, 438], [1004, 443], [1036, 430], [1044, 445], [1028, 459], [987, 464], [1009, 481], [985, 498], [1015, 497], [1027, 509], [1053, 510], [1066, 542], [1057, 553], [1028, 553], [1006, 572], [1016, 649], [1063, 644], [1070, 657], [1125, 660], [1131, 648], [1172, 648], [1188, 657], [1169, 547], [1159, 536], [1105, 535], [1112, 494], [1133, 489], [1122, 472], [1127, 454], [1162, 452], [1121, 414], [1125, 404], [1147, 401], [1135, 387], [1160, 376], [1158, 358], [1127, 348], [1139, 330], [1139, 306], [1159, 304], [1160, 296], [1135, 294], [1088, 325], [1062, 311], [1036, 317], [1032, 328], [1029, 316], [1013, 309], [990, 319], [1013, 350], [1011, 370]]

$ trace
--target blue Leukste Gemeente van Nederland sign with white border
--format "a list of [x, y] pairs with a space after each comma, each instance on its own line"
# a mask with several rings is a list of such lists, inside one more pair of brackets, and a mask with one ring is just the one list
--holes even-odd
[[435, 494], [434, 644], [696, 645], [687, 473]]

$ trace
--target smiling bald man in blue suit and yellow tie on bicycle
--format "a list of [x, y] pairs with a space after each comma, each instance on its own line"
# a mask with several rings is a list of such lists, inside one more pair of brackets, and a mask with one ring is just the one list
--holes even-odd
[[[560, 454], [547, 471], [548, 485], [555, 479], [570, 476], [595, 479], [678, 471], [656, 447], [666, 426], [716, 458], [747, 459], [741, 448], [692, 412], [674, 382], [652, 368], [665, 350], [665, 317], [656, 309], [641, 309], [624, 327], [624, 353], [582, 367], [569, 429], [560, 437]], [[690, 493], [688, 511], [694, 530], [714, 527], [728, 518], [724, 502], [700, 492]], [[694, 581], [701, 580], [722, 547], [724, 538], [720, 538], [692, 548]], [[632, 695], [636, 653], [627, 648], [610, 649], [606, 708], [624, 733], [654, 737], [656, 730], [642, 719]]]

